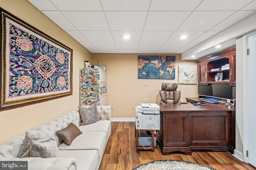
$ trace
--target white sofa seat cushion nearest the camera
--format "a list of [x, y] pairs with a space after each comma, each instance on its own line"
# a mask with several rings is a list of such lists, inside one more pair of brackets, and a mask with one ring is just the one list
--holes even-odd
[[77, 170], [95, 170], [98, 164], [98, 152], [89, 150], [59, 150], [59, 158], [76, 158]]

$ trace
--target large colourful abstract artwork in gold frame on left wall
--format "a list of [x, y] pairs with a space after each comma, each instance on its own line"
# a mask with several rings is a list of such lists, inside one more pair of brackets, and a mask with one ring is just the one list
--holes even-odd
[[72, 49], [1, 10], [1, 110], [72, 94]]

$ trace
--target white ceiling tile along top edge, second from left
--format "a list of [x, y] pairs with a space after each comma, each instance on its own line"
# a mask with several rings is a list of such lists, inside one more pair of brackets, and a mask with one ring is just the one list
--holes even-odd
[[99, 0], [51, 0], [51, 2], [61, 11], [102, 10]]

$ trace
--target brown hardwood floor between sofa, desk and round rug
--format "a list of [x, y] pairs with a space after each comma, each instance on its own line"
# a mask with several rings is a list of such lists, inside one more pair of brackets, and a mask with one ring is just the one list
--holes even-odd
[[112, 122], [111, 135], [100, 170], [132, 170], [155, 160], [182, 160], [209, 166], [217, 170], [256, 170], [229, 152], [192, 152], [192, 155], [173, 153], [162, 155], [160, 148], [136, 152], [134, 122]]

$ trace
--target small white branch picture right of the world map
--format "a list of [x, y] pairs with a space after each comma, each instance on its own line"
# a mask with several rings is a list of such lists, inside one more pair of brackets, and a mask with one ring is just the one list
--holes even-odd
[[196, 84], [197, 66], [179, 66], [178, 84]]

